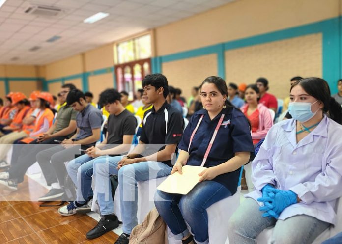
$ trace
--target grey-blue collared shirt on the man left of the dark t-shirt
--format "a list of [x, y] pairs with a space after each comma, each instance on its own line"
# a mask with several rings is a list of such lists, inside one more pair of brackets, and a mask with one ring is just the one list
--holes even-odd
[[102, 120], [101, 111], [91, 104], [88, 104], [85, 109], [76, 116], [77, 128], [79, 128], [76, 140], [91, 136], [93, 129], [101, 128]]

